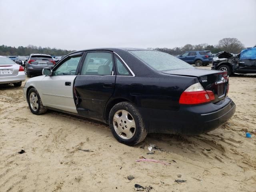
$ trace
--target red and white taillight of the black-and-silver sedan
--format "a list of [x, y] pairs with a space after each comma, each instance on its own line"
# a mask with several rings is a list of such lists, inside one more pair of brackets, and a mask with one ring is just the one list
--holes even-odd
[[179, 103], [185, 105], [194, 105], [207, 103], [215, 100], [212, 91], [204, 90], [200, 83], [196, 83], [187, 88], [180, 96]]

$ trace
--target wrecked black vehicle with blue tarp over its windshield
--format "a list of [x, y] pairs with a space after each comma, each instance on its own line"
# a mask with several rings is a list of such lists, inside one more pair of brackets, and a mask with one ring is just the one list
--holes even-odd
[[226, 58], [226, 60], [214, 61], [212, 70], [227, 71], [228, 75], [256, 74], [256, 47], [243, 50], [236, 56], [225, 51], [216, 55], [218, 58]]

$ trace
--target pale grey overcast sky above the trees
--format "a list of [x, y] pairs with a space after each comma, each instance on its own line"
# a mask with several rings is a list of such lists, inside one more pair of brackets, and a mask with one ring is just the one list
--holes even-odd
[[0, 44], [80, 50], [256, 44], [256, 0], [0, 0]]

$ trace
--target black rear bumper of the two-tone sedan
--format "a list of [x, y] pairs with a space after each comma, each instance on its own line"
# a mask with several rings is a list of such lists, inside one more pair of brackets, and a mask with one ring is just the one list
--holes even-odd
[[178, 111], [140, 108], [148, 132], [202, 134], [218, 128], [235, 113], [236, 105], [226, 97], [217, 104], [182, 105]]

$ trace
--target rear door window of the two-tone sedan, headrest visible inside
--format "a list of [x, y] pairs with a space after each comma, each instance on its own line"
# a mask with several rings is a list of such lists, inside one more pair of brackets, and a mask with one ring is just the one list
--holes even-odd
[[112, 54], [108, 52], [89, 52], [86, 54], [81, 75], [112, 75]]

